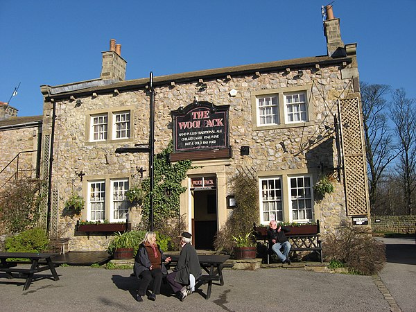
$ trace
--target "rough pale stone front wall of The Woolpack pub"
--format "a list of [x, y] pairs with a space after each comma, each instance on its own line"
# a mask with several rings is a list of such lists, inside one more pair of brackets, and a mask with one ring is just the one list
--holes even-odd
[[[314, 144], [306, 150], [302, 145], [311, 137], [324, 130], [324, 125], [333, 125], [333, 113], [336, 112], [338, 96], [345, 97], [352, 90], [348, 79], [340, 76], [336, 66], [321, 67], [319, 70], [304, 70], [301, 78], [297, 71], [264, 73], [261, 76], [233, 76], [231, 80], [207, 80], [207, 89], [200, 91], [198, 81], [177, 83], [174, 87], [166, 85], [155, 88], [155, 153], [161, 152], [172, 139], [172, 119], [170, 112], [198, 101], [208, 101], [214, 105], [229, 105], [229, 144], [233, 157], [225, 166], [226, 180], [230, 181], [238, 168], [250, 168], [254, 174], [290, 175], [312, 174], [313, 182], [318, 179], [318, 164], [324, 162], [327, 168], [336, 166], [336, 148], [333, 137]], [[252, 94], [259, 90], [304, 87], [310, 91], [309, 104], [313, 106], [311, 123], [304, 126], [255, 130], [252, 120]], [[230, 96], [234, 89], [236, 96]], [[347, 89], [347, 90], [345, 90]], [[325, 98], [322, 98], [325, 94]], [[76, 222], [68, 216], [62, 217], [64, 200], [71, 191], [86, 196], [88, 179], [131, 177], [137, 173], [136, 167], [148, 167], [147, 153], [114, 153], [119, 147], [133, 147], [148, 142], [149, 96], [145, 89], [131, 90], [119, 94], [99, 94], [80, 98], [81, 105], [75, 105], [70, 99], [56, 101], [55, 142], [52, 188], [58, 191], [58, 215], [60, 223]], [[44, 105], [44, 133], [50, 133], [52, 105]], [[89, 116], [94, 112], [107, 110], [130, 110], [134, 128], [132, 138], [123, 141], [89, 142]], [[281, 142], [284, 142], [285, 149]], [[241, 146], [250, 146], [250, 155], [241, 156]], [[206, 166], [206, 165], [205, 165]], [[76, 172], [86, 175], [83, 182]], [[327, 173], [333, 172], [328, 169]], [[148, 175], [148, 171], [144, 177]], [[138, 178], [132, 183], [139, 182]], [[322, 232], [339, 224], [345, 216], [345, 198], [343, 185], [333, 181], [336, 191], [320, 202], [315, 202], [315, 218], [320, 219]], [[227, 185], [229, 189], [230, 185]], [[288, 211], [288, 210], [287, 210]], [[77, 218], [86, 218], [86, 215]], [[288, 215], [285, 215], [288, 220]], [[137, 223], [137, 220], [132, 220]], [[73, 237], [73, 227], [64, 231], [62, 236]], [[84, 237], [73, 237], [71, 250], [97, 250], [106, 243], [96, 236], [97, 241]], [[94, 245], [94, 247], [87, 247]], [[101, 248], [99, 248], [101, 250]]]

